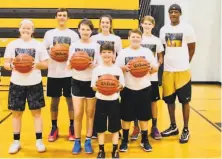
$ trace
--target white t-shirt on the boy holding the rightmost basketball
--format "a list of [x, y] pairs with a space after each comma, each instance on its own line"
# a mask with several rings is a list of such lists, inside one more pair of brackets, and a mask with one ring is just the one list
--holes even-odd
[[[135, 57], [143, 57], [151, 64], [151, 66], [157, 67], [153, 53], [150, 51], [150, 49], [144, 47], [140, 47], [137, 50], [131, 49], [130, 47], [123, 49], [116, 58], [116, 65], [120, 67], [125, 66]], [[124, 77], [126, 87], [131, 90], [141, 90], [151, 85], [149, 74], [144, 77], [137, 78], [132, 76], [130, 72], [125, 72]]]

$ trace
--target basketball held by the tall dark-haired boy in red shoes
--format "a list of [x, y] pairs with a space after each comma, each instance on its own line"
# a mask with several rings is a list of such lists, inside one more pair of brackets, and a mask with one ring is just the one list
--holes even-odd
[[51, 48], [50, 57], [57, 62], [65, 62], [68, 60], [69, 47], [65, 44], [56, 44]]

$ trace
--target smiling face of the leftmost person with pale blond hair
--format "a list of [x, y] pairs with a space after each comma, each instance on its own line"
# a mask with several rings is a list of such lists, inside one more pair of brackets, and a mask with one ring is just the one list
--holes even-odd
[[34, 26], [31, 22], [23, 22], [19, 28], [20, 36], [24, 40], [32, 38], [34, 32]]

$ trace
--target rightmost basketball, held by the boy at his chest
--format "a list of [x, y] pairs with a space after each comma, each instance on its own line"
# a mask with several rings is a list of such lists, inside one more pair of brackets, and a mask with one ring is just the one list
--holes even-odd
[[137, 78], [144, 77], [149, 72], [149, 63], [144, 58], [138, 57], [130, 61], [130, 73]]

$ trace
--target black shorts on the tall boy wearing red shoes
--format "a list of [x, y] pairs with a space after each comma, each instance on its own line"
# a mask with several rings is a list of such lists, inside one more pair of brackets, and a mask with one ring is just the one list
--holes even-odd
[[58, 98], [71, 96], [71, 79], [72, 77], [51, 78], [47, 79], [47, 96]]

